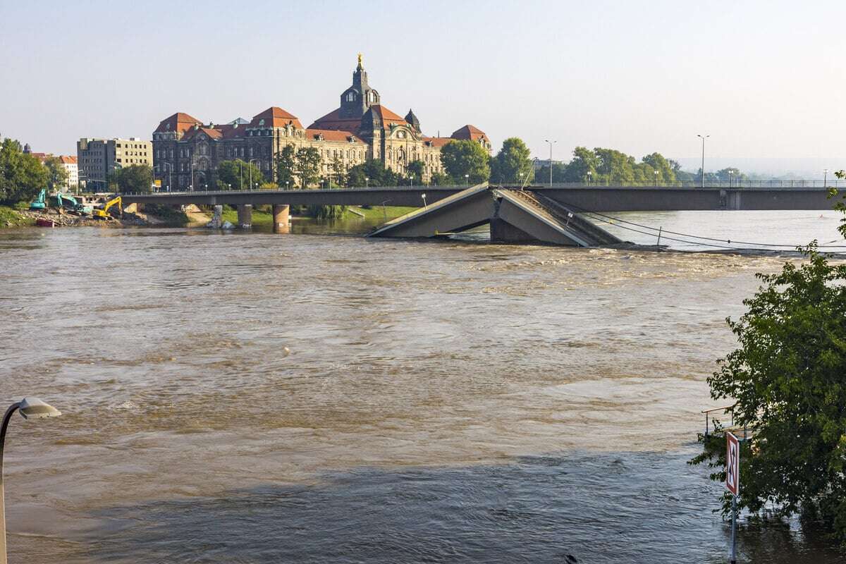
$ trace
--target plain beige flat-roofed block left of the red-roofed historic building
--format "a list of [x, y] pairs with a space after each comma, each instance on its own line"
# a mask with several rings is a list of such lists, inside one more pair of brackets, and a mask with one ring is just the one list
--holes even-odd
[[131, 165], [153, 166], [151, 141], [136, 137], [129, 139], [82, 138], [76, 143], [79, 183], [89, 192], [108, 189], [108, 175], [118, 168]]

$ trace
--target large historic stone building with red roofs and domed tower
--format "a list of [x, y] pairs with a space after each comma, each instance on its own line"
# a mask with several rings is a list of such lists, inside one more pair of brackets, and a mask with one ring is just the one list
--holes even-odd
[[[353, 84], [343, 90], [338, 109], [308, 128], [280, 107], [269, 107], [249, 121], [239, 118], [224, 124], [205, 124], [178, 112], [159, 123], [152, 143], [162, 188], [185, 190], [216, 189], [217, 166], [233, 159], [253, 162], [266, 178], [274, 178], [277, 158], [286, 145], [295, 151], [316, 148], [323, 178], [331, 178], [335, 162], [348, 170], [369, 159], [382, 159], [386, 167], [400, 174], [407, 172], [409, 162], [423, 162], [424, 175], [418, 180], [427, 183], [432, 174], [442, 172], [442, 146], [456, 139], [475, 140], [491, 151], [486, 134], [472, 125], [451, 137], [426, 137], [414, 112], [409, 110], [400, 118], [382, 106], [379, 93], [368, 84], [359, 56]], [[242, 178], [239, 183], [245, 189], [250, 180]]]

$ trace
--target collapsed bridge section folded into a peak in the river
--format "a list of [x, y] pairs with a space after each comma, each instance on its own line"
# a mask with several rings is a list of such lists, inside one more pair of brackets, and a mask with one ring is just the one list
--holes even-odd
[[370, 237], [437, 237], [486, 223], [491, 238], [506, 243], [596, 247], [622, 241], [541, 194], [477, 184], [387, 222]]

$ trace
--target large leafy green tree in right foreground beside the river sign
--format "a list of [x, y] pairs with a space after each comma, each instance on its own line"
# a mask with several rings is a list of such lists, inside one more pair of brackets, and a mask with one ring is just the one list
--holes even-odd
[[[839, 229], [846, 237], [846, 223]], [[735, 424], [754, 430], [741, 446], [739, 507], [815, 517], [846, 542], [846, 265], [829, 263], [816, 241], [801, 250], [805, 263], [757, 275], [747, 312], [727, 320], [739, 348], [708, 383], [711, 397], [736, 402]], [[725, 440], [700, 441], [705, 452], [691, 463], [725, 479]]]

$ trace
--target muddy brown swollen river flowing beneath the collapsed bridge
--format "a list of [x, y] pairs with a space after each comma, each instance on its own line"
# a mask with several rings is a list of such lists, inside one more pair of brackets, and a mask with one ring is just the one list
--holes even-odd
[[[708, 213], [625, 217], [716, 235]], [[838, 237], [771, 213], [718, 228]], [[727, 560], [686, 461], [724, 319], [784, 258], [365, 227], [0, 232], [3, 395], [63, 411], [10, 425], [9, 561]], [[739, 550], [842, 561], [793, 521]]]

